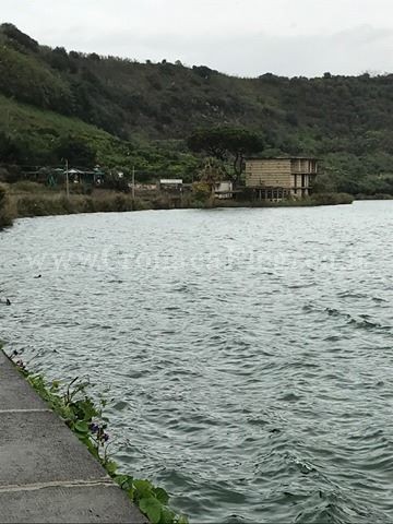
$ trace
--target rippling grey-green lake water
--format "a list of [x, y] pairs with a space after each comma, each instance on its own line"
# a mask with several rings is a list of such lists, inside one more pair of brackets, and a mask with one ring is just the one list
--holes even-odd
[[392, 234], [392, 201], [22, 219], [0, 338], [110, 386], [117, 460], [191, 522], [385, 523]]

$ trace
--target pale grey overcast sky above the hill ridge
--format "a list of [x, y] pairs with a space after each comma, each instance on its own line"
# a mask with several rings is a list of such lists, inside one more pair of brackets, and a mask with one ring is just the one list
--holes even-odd
[[393, 72], [392, 0], [0, 0], [52, 47], [241, 76]]

